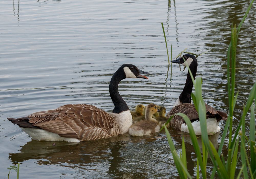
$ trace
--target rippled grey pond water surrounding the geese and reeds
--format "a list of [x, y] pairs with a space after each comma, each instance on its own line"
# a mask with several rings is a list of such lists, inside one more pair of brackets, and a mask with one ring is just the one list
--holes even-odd
[[[226, 54], [232, 23], [239, 23], [249, 1], [0, 1], [0, 178], [20, 162], [20, 178], [179, 178], [165, 133], [128, 134], [81, 143], [39, 142], [6, 120], [86, 103], [112, 111], [108, 85], [124, 63], [150, 72], [149, 80], [126, 79], [119, 91], [130, 109], [155, 103], [169, 111], [182, 91], [187, 69], [170, 66], [161, 22], [173, 56], [198, 57], [205, 102], [228, 113]], [[256, 6], [238, 40], [234, 115], [256, 81]], [[175, 58], [175, 57], [173, 57]], [[181, 72], [182, 71], [182, 72]], [[170, 74], [172, 72], [172, 74]], [[221, 131], [225, 123], [221, 122]], [[249, 120], [246, 121], [249, 126]], [[179, 131], [169, 130], [181, 150]], [[211, 137], [218, 147], [221, 133]], [[157, 138], [157, 139], [150, 139]], [[143, 140], [139, 140], [143, 139]], [[199, 138], [200, 139], [200, 138]], [[196, 155], [185, 136], [188, 169], [196, 175]], [[227, 145], [227, 144], [225, 144]], [[224, 146], [223, 153], [226, 153]], [[209, 174], [211, 165], [208, 166]], [[15, 172], [10, 175], [15, 177]]]

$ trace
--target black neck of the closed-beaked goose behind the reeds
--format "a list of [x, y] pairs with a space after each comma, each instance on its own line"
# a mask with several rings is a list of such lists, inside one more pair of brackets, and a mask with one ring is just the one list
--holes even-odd
[[[197, 61], [194, 60], [190, 65], [189, 68], [191, 70], [191, 73], [195, 79], [196, 77], [196, 71], [197, 71]], [[179, 100], [181, 103], [191, 103], [191, 93], [192, 93], [192, 89], [193, 89], [193, 81], [191, 79], [191, 76], [189, 74], [187, 74], [187, 80], [185, 83], [185, 86], [183, 88], [182, 93], [179, 95]]]

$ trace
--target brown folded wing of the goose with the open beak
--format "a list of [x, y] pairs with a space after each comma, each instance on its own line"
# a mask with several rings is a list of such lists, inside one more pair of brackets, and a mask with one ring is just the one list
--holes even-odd
[[95, 133], [94, 130], [109, 135], [115, 125], [107, 112], [86, 104], [64, 105], [54, 110], [33, 113], [28, 118], [33, 126], [57, 133], [61, 137], [78, 139], [90, 137], [90, 134]]

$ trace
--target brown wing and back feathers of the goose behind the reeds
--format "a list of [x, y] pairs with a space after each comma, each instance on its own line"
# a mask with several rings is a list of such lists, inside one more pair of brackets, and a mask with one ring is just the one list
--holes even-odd
[[[217, 121], [221, 119], [227, 120], [226, 113], [217, 111], [211, 106], [209, 106], [208, 104], [205, 104], [205, 107], [206, 107], [206, 118], [216, 118]], [[190, 103], [184, 103], [184, 104], [180, 104], [173, 107], [173, 109], [169, 111], [166, 117], [169, 118], [170, 116], [176, 113], [186, 114], [191, 122], [199, 119], [195, 106]], [[181, 116], [175, 115], [170, 121], [170, 126], [174, 129], [180, 130], [180, 127], [183, 123], [185, 123], [184, 119]]]

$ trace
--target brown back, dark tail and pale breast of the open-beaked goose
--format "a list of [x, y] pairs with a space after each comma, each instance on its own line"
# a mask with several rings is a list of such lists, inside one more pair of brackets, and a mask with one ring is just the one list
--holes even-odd
[[8, 119], [22, 128], [44, 129], [60, 137], [88, 141], [127, 132], [132, 123], [131, 113], [129, 110], [123, 113], [119, 121], [120, 114], [107, 113], [93, 105], [70, 104], [24, 118]]

